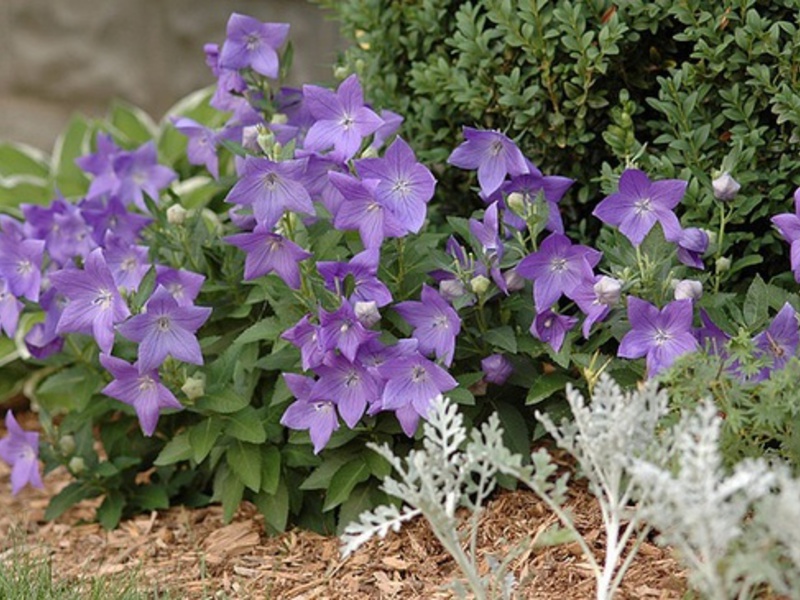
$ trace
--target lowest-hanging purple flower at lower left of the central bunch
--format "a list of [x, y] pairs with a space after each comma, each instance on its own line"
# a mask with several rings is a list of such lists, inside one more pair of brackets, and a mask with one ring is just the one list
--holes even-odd
[[330, 400], [311, 400], [314, 380], [296, 373], [284, 373], [289, 390], [297, 399], [281, 417], [281, 425], [290, 429], [307, 429], [314, 444], [314, 454], [319, 454], [339, 429], [336, 407]]

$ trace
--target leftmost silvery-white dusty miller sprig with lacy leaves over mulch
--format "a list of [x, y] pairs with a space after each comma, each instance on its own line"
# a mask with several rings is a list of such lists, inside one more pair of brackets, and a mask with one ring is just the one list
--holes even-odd
[[[483, 503], [495, 487], [498, 465], [518, 469], [521, 459], [503, 444], [503, 432], [496, 414], [469, 439], [458, 406], [438, 396], [432, 403], [424, 424], [423, 446], [411, 450], [402, 460], [387, 445], [369, 447], [383, 456], [398, 474], [387, 477], [383, 490], [402, 498], [406, 506], [379, 506], [361, 514], [357, 522], [347, 526], [342, 535], [342, 554], [349, 556], [371, 537], [386, 536], [389, 530], [419, 515], [431, 525], [433, 532], [464, 574], [467, 587], [476, 599], [510, 598], [515, 585], [508, 574], [510, 553], [503, 561], [489, 561], [491, 572], [481, 576], [478, 566], [478, 521]], [[466, 442], [466, 445], [465, 445]], [[470, 511], [468, 526], [459, 531], [456, 509]], [[466, 595], [463, 584], [454, 584], [460, 597]]]

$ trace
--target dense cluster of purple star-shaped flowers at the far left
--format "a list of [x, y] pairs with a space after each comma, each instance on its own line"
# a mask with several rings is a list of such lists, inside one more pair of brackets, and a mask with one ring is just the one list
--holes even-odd
[[[84, 198], [23, 204], [24, 221], [0, 221], [0, 327], [14, 336], [27, 301], [44, 315], [24, 337], [34, 357], [59, 352], [66, 334], [94, 338], [115, 377], [104, 393], [132, 405], [152, 435], [162, 408], [181, 408], [158, 388], [158, 367], [167, 356], [202, 363], [194, 334], [211, 309], [193, 305], [202, 275], [151, 264], [139, 243], [152, 221], [145, 196], [158, 203], [175, 173], [158, 164], [152, 143], [128, 151], [104, 133], [96, 141], [96, 151], [77, 160], [92, 175]], [[134, 315], [129, 300], [153, 267], [155, 291]], [[117, 333], [138, 344], [127, 370], [111, 356]]]

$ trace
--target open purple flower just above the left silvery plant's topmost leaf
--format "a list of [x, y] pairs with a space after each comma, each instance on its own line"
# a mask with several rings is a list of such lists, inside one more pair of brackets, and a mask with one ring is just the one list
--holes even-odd
[[367, 369], [342, 355], [314, 369], [319, 379], [310, 400], [330, 400], [351, 429], [358, 424], [368, 404], [380, 399], [381, 385]]

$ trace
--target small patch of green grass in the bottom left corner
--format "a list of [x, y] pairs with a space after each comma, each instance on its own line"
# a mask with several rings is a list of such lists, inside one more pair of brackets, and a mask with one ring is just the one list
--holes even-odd
[[125, 575], [87, 576], [78, 581], [58, 581], [50, 559], [35, 547], [11, 540], [0, 552], [2, 600], [169, 600], [165, 592], [143, 591], [135, 570]]

